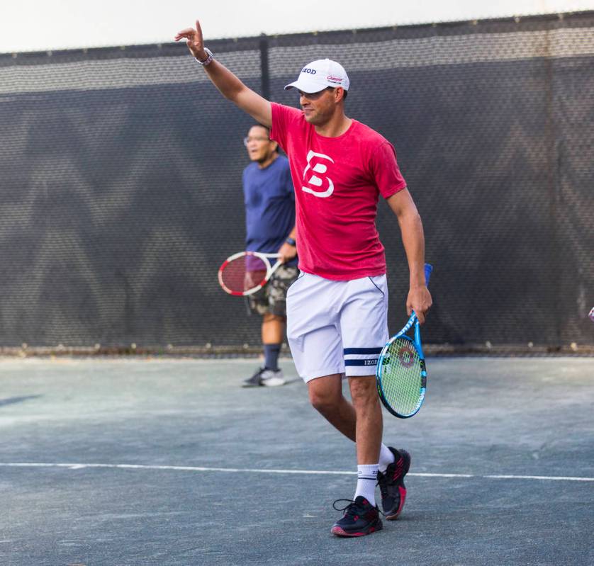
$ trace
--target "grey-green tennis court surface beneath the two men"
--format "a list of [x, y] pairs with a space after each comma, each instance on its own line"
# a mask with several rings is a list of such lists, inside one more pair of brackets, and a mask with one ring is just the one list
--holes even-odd
[[300, 380], [242, 389], [256, 363], [0, 360], [0, 564], [594, 563], [593, 358], [430, 358], [420, 413], [384, 413], [403, 515], [357, 539], [354, 446]]

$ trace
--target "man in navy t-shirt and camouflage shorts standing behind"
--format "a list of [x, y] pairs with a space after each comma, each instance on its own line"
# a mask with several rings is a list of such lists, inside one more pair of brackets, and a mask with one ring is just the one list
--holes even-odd
[[264, 288], [248, 297], [253, 312], [262, 315], [264, 366], [244, 387], [274, 387], [286, 383], [278, 366], [286, 324], [286, 290], [298, 275], [295, 242], [295, 193], [288, 159], [270, 140], [269, 129], [250, 128], [245, 147], [252, 163], [243, 171], [246, 251], [278, 253], [281, 265]]

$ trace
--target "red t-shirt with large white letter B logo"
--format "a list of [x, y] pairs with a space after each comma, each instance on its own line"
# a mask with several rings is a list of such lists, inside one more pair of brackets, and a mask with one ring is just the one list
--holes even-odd
[[337, 281], [386, 273], [378, 198], [406, 186], [393, 145], [357, 120], [324, 137], [297, 108], [271, 106], [270, 137], [288, 155], [295, 187], [299, 269]]

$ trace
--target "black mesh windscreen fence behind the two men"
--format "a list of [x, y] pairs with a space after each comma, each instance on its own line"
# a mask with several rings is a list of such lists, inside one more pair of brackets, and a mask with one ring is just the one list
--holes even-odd
[[[208, 46], [292, 106], [304, 64], [347, 69], [347, 115], [393, 142], [425, 225], [425, 341], [594, 345], [594, 12]], [[184, 45], [0, 55], [0, 346], [259, 344], [216, 277], [243, 248], [252, 123]], [[385, 203], [378, 227], [394, 332]]]

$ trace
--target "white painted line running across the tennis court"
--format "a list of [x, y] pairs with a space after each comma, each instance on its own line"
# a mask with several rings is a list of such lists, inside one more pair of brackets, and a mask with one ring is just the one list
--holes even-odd
[[[117, 468], [120, 470], [174, 470], [180, 472], [231, 472], [255, 474], [303, 474], [303, 475], [357, 475], [357, 472], [342, 472], [338, 470], [265, 470], [250, 468], [203, 468], [199, 466], [164, 466], [142, 464], [74, 464], [74, 463], [28, 463], [28, 462], [0, 462], [1, 468], [67, 468], [69, 470], [84, 470], [85, 468]], [[548, 480], [562, 482], [594, 482], [594, 477], [571, 477], [557, 475], [474, 475], [474, 474], [407, 474], [413, 477], [478, 477], [487, 480]]]

